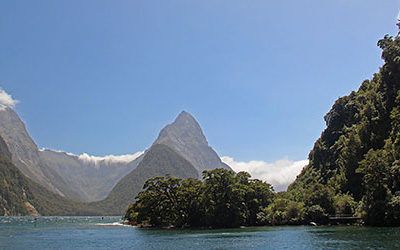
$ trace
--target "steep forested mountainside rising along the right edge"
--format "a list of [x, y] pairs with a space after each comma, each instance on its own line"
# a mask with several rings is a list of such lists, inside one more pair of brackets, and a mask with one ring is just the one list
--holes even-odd
[[[309, 165], [288, 191], [301, 200], [306, 190], [320, 187], [341, 204], [354, 199], [366, 224], [398, 226], [400, 37], [385, 36], [378, 45], [384, 65], [357, 91], [334, 103], [325, 116], [327, 127], [310, 152]], [[316, 203], [319, 198], [313, 198], [310, 205], [327, 207], [326, 196], [320, 198], [324, 201]], [[346, 206], [351, 208], [352, 203]], [[347, 211], [352, 209], [356, 210]]]

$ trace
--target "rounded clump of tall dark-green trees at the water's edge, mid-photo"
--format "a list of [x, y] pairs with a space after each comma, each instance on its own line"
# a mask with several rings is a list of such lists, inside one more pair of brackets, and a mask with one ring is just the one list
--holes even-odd
[[155, 177], [146, 181], [125, 217], [156, 227], [236, 227], [257, 225], [274, 193], [271, 185], [227, 169], [203, 172], [203, 181]]

